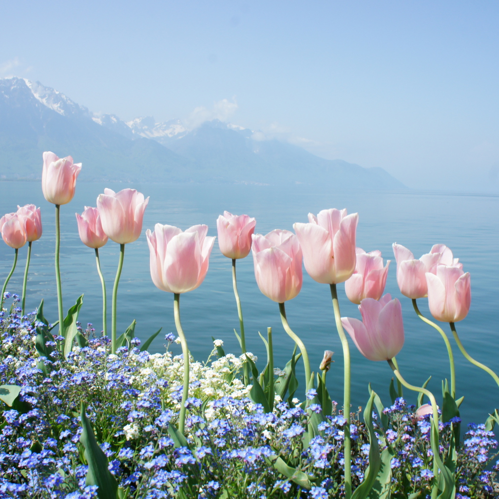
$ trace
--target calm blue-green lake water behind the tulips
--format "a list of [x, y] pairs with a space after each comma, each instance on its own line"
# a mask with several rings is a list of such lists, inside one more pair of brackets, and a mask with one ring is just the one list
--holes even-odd
[[[84, 293], [79, 320], [102, 328], [101, 284], [95, 266], [94, 250], [84, 246], [78, 236], [75, 212], [84, 206], [96, 206], [96, 198], [104, 187], [115, 191], [132, 187], [150, 196], [141, 237], [126, 245], [123, 272], [118, 292], [118, 334], [133, 319], [142, 340], [163, 327], [150, 351], [163, 351], [163, 333], [175, 332], [173, 295], [157, 289], [149, 273], [149, 249], [146, 229], [156, 223], [178, 226], [185, 230], [195, 224], [209, 226], [208, 234], [217, 235], [216, 220], [224, 210], [247, 213], [256, 218], [256, 232], [272, 229], [292, 230], [294, 222], [306, 222], [308, 212], [326, 208], [347, 208], [359, 213], [357, 246], [366, 251], [381, 250], [390, 259], [386, 292], [402, 302], [405, 345], [398, 355], [401, 372], [412, 384], [421, 385], [433, 376], [429, 388], [437, 400], [442, 398], [441, 380], [449, 378], [449, 361], [441, 336], [424, 324], [414, 313], [411, 300], [400, 294], [396, 282], [396, 264], [392, 243], [408, 247], [419, 258], [435, 243], [449, 246], [455, 257], [471, 273], [472, 305], [468, 317], [457, 323], [461, 340], [477, 360], [499, 372], [499, 197], [428, 192], [345, 192], [316, 191], [306, 186], [275, 189], [269, 186], [202, 186], [125, 183], [77, 184], [73, 201], [61, 207], [61, 278], [64, 310]], [[57, 297], [54, 273], [54, 205], [45, 201], [40, 182], [0, 182], [0, 214], [16, 210], [16, 206], [34, 203], [41, 206], [43, 236], [33, 243], [26, 309], [33, 310], [45, 300], [45, 316], [57, 320]], [[108, 289], [108, 328], [111, 327], [111, 291], [118, 263], [119, 246], [111, 241], [102, 248], [101, 266]], [[18, 266], [9, 282], [10, 292], [21, 293], [26, 247], [19, 250]], [[1, 281], [7, 275], [13, 250], [0, 244]], [[263, 296], [254, 279], [251, 254], [238, 260], [238, 287], [243, 305], [247, 348], [255, 353], [258, 367], [265, 364], [265, 350], [258, 336], [266, 336], [272, 327], [274, 366], [283, 368], [289, 360], [293, 344], [280, 323], [278, 305]], [[338, 285], [341, 314], [360, 318], [357, 306], [348, 301], [344, 285]], [[197, 360], [206, 359], [212, 339], [224, 340], [226, 352], [238, 354], [239, 344], [234, 328], [239, 331], [237, 308], [232, 288], [231, 260], [220, 253], [217, 242], [210, 258], [210, 268], [203, 284], [181, 297], [181, 315], [190, 350]], [[421, 311], [428, 317], [427, 300], [419, 300]], [[325, 349], [335, 352], [327, 375], [331, 397], [342, 402], [343, 360], [341, 344], [334, 325], [329, 287], [313, 281], [303, 269], [300, 294], [286, 302], [291, 328], [303, 339], [310, 356], [312, 370], [317, 371]], [[452, 338], [449, 326], [442, 326]], [[465, 395], [461, 406], [464, 422], [484, 422], [489, 412], [499, 407], [499, 388], [484, 371], [464, 359], [453, 342], [457, 371], [457, 396]], [[390, 405], [388, 384], [392, 372], [385, 362], [371, 362], [360, 355], [350, 342], [352, 357], [352, 406], [364, 406], [368, 398], [367, 384], [377, 391], [385, 406]], [[174, 345], [180, 353], [180, 346]], [[300, 397], [302, 390], [301, 371]], [[405, 392], [412, 403], [416, 394]]]

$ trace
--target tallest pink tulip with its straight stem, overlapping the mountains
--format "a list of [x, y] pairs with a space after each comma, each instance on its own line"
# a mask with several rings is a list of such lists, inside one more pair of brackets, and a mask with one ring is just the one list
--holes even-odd
[[60, 251], [60, 206], [69, 203], [74, 196], [76, 179], [81, 171], [81, 163], [73, 163], [73, 158], [59, 158], [56, 154], [43, 153], [41, 189], [43, 196], [55, 205], [55, 281], [57, 284], [57, 305], [59, 311], [59, 335], [64, 336], [64, 312], [62, 309], [62, 285], [59, 268]]

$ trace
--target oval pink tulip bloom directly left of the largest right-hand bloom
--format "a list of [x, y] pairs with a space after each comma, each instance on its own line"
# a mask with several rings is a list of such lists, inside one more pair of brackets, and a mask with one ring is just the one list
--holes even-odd
[[301, 289], [302, 254], [298, 238], [289, 231], [253, 234], [254, 275], [260, 291], [277, 303], [294, 298]]

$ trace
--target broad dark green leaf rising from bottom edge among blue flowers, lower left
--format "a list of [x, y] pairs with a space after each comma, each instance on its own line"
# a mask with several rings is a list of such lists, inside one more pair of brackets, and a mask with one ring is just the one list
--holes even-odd
[[80, 436], [80, 442], [85, 448], [85, 459], [88, 464], [85, 485], [96, 485], [99, 499], [116, 499], [118, 497], [118, 484], [108, 470], [107, 457], [97, 444], [85, 409], [85, 404], [82, 402], [80, 420], [83, 432]]

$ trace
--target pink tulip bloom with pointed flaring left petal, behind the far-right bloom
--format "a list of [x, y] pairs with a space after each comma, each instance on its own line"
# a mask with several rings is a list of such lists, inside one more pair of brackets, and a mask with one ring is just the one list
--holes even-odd
[[428, 294], [426, 272], [435, 273], [441, 253], [426, 253], [419, 260], [402, 245], [393, 243], [393, 254], [397, 261], [397, 283], [400, 291], [408, 298], [423, 298]]

